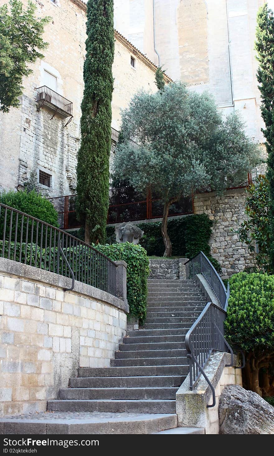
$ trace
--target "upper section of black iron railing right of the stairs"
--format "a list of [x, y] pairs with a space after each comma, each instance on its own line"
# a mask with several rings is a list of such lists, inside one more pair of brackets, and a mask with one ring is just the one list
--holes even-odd
[[214, 268], [213, 264], [210, 263], [209, 259], [203, 252], [199, 252], [186, 263], [187, 279], [193, 279], [197, 274], [202, 274], [208, 281], [217, 296], [220, 305], [224, 309], [227, 301], [227, 290], [225, 289], [223, 280], [218, 275], [218, 272]]

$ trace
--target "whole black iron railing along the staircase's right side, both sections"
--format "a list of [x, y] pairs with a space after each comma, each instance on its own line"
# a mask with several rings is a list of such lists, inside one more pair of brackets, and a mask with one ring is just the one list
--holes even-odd
[[233, 351], [224, 338], [223, 328], [226, 308], [228, 306], [229, 285], [228, 290], [226, 290], [223, 280], [203, 252], [199, 252], [186, 263], [187, 279], [194, 279], [197, 274], [202, 274], [208, 281], [208, 284], [218, 298], [220, 306], [208, 302], [186, 335], [186, 350], [189, 361], [189, 387], [192, 390], [202, 374], [213, 394], [213, 402], [208, 407], [214, 407], [216, 404], [215, 390], [204, 372], [204, 367], [213, 351], [229, 351], [231, 354], [231, 364], [229, 366], [233, 365]]

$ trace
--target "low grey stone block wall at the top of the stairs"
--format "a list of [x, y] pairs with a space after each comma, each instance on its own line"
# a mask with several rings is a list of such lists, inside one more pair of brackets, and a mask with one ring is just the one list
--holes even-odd
[[150, 259], [149, 279], [185, 279], [187, 258], [179, 259]]

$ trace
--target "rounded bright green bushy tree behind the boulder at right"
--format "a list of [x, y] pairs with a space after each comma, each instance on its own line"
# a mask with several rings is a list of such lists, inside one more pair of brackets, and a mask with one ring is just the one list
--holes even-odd
[[244, 386], [260, 396], [274, 394], [274, 276], [234, 274], [224, 322], [226, 339], [245, 352]]

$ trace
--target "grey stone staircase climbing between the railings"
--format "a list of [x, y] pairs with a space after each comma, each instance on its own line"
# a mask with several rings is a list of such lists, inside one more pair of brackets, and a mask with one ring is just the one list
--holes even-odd
[[89, 426], [84, 420], [79, 434], [84, 429], [94, 434], [203, 433], [175, 431], [175, 397], [188, 374], [185, 335], [205, 304], [194, 280], [148, 280], [146, 321], [139, 331], [127, 332], [111, 367], [79, 368], [69, 388], [60, 389], [59, 399], [48, 401], [48, 411], [59, 416], [59, 432], [62, 418], [84, 420], [86, 413]]

